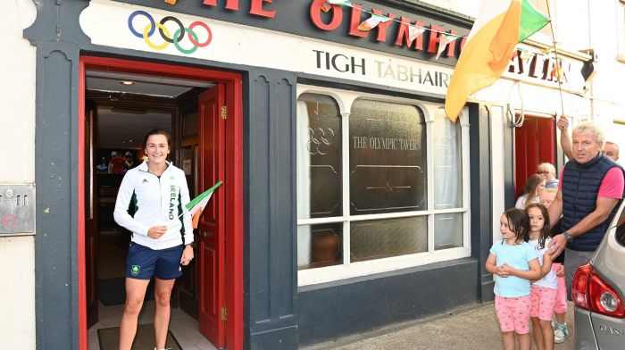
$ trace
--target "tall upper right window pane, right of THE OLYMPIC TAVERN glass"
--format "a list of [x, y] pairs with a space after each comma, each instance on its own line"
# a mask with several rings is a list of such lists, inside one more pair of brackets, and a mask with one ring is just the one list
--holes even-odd
[[434, 208], [451, 209], [462, 206], [461, 127], [438, 109], [434, 116]]

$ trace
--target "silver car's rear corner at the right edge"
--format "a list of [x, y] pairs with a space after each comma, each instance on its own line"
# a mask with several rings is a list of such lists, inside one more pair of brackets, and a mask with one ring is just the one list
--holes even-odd
[[575, 272], [571, 298], [575, 348], [625, 349], [625, 201], [587, 264]]

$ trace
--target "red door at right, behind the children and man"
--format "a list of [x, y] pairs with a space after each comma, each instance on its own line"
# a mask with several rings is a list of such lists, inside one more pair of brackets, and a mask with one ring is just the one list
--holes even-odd
[[555, 165], [555, 121], [549, 117], [525, 115], [521, 128], [514, 129], [514, 197], [537, 171], [538, 164]]

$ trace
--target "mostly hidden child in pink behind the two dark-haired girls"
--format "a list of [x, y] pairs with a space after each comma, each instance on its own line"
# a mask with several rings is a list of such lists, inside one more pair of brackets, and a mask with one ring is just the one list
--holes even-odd
[[[554, 202], [557, 193], [558, 190], [555, 188], [545, 188], [545, 190], [540, 193], [540, 204], [545, 205], [545, 207], [549, 209], [549, 205]], [[558, 221], [554, 228], [551, 229], [550, 237], [561, 233], [562, 227], [560, 226], [560, 221]], [[555, 271], [555, 275], [558, 278], [558, 295], [555, 297], [554, 307], [555, 321], [552, 326], [554, 327], [555, 344], [560, 344], [569, 337], [569, 326], [566, 324], [568, 304], [566, 304], [566, 281], [564, 280], [564, 252], [555, 257], [552, 269]]]

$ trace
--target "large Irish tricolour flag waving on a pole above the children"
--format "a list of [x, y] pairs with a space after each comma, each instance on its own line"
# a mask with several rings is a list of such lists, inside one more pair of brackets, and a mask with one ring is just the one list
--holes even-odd
[[529, 0], [484, 0], [449, 82], [447, 117], [456, 121], [467, 98], [495, 83], [508, 68], [517, 43], [547, 23]]

